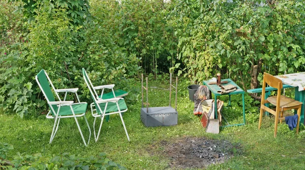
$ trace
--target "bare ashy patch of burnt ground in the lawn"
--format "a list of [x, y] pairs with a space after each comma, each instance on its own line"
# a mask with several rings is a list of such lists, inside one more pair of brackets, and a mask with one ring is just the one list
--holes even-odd
[[161, 141], [165, 156], [171, 158], [172, 168], [203, 168], [209, 164], [223, 163], [234, 153], [241, 151], [240, 144], [227, 140], [212, 140], [204, 137], [185, 137], [172, 143]]

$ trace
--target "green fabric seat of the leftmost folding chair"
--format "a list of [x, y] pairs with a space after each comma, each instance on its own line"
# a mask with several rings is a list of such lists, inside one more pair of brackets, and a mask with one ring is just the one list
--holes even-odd
[[[87, 110], [87, 103], [73, 103], [72, 104], [72, 108], [74, 110], [74, 114], [75, 115], [81, 115], [84, 114]], [[57, 113], [58, 110], [58, 106], [53, 105], [54, 110]], [[54, 116], [54, 114], [52, 113], [52, 115]], [[60, 110], [59, 110], [59, 116], [70, 116], [73, 115], [72, 114], [72, 110], [70, 106], [60, 106]]]

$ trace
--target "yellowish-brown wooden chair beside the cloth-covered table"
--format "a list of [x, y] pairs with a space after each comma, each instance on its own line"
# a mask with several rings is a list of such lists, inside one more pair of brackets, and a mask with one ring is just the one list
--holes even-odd
[[[278, 90], [277, 96], [271, 96], [271, 97], [268, 97], [267, 99], [265, 99], [266, 83], [269, 84], [270, 87]], [[296, 101], [289, 97], [286, 97], [284, 95], [281, 95], [282, 88], [283, 88], [282, 80], [264, 72], [263, 90], [262, 90], [262, 97], [261, 97], [262, 100], [261, 100], [261, 107], [260, 107], [258, 129], [260, 129], [260, 127], [261, 127], [264, 110], [268, 111], [270, 114], [275, 116], [275, 135], [274, 135], [275, 137], [277, 137], [279, 120], [285, 120], [285, 117], [283, 117], [283, 112], [285, 110], [297, 109], [298, 119], [297, 119], [296, 133], [298, 133], [300, 114], [301, 114], [301, 105], [303, 104], [302, 102], [299, 102], [299, 101]], [[265, 106], [264, 104], [266, 104], [266, 103], [271, 103], [272, 105], [275, 105], [276, 109], [271, 109], [271, 108]], [[281, 112], [281, 115], [280, 115], [280, 112]]]

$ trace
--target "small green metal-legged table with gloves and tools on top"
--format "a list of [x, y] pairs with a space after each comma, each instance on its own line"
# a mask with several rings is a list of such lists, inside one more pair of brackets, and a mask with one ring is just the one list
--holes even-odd
[[[228, 81], [228, 83], [223, 84], [223, 85], [228, 85], [228, 84], [232, 84], [234, 86], [237, 87], [237, 90], [235, 90], [234, 92], [231, 93], [226, 93], [226, 94], [219, 94], [217, 93], [217, 91], [221, 90], [219, 86], [217, 86], [216, 84], [212, 84], [209, 85], [208, 83], [211, 80], [206, 80], [203, 81], [203, 84], [214, 94], [215, 96], [215, 103], [217, 103], [217, 96], [223, 96], [223, 95], [229, 95], [229, 105], [231, 105], [231, 95], [236, 95], [236, 94], [241, 94], [242, 95], [242, 116], [243, 116], [243, 123], [240, 124], [234, 124], [234, 125], [230, 125], [227, 121], [226, 118], [223, 116], [224, 120], [227, 122], [228, 125], [226, 126], [222, 126], [222, 127], [228, 127], [228, 126], [240, 126], [240, 125], [246, 125], [246, 116], [245, 116], [245, 91], [243, 91], [239, 86], [237, 86], [237, 84], [231, 80], [230, 78], [228, 79], [222, 79], [222, 81]], [[217, 104], [215, 104], [215, 117], [217, 119]]]

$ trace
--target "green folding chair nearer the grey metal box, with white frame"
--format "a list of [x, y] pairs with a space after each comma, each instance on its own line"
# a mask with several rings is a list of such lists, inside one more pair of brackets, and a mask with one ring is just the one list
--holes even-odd
[[[105, 116], [112, 115], [112, 114], [119, 115], [119, 117], [122, 121], [123, 127], [125, 129], [128, 141], [130, 141], [123, 117], [121, 115], [123, 112], [128, 110], [124, 98], [115, 97], [115, 93], [113, 90], [114, 84], [94, 87], [84, 68], [82, 68], [82, 73], [83, 73], [84, 80], [87, 84], [87, 87], [90, 91], [91, 97], [94, 101], [93, 103], [90, 104], [90, 107], [91, 107], [92, 116], [95, 118], [94, 123], [93, 123], [95, 141], [98, 141]], [[103, 99], [102, 96], [103, 96], [104, 89], [111, 89], [114, 97], [109, 98], [109, 99]], [[98, 95], [97, 90], [102, 90], [101, 95]], [[96, 124], [97, 118], [101, 118], [101, 124], [99, 127], [98, 134], [96, 135], [95, 124]]]

